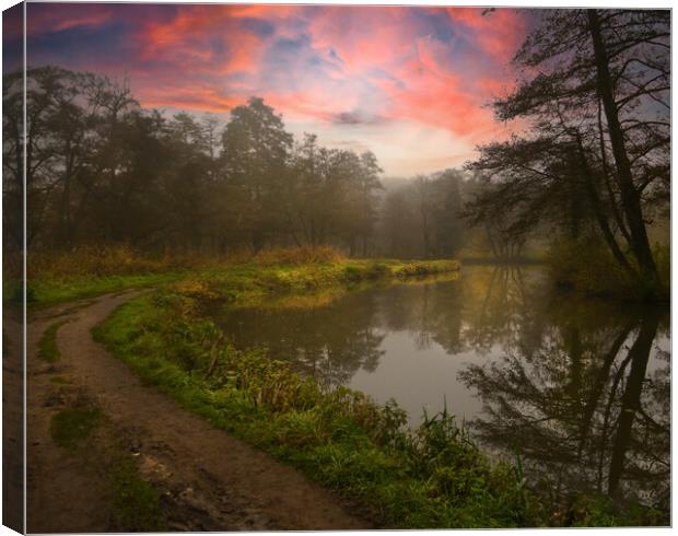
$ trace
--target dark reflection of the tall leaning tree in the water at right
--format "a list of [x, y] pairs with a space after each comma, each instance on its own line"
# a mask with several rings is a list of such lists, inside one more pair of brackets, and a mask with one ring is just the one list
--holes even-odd
[[[670, 366], [656, 342], [667, 336], [667, 312], [553, 293], [535, 316], [521, 277], [496, 277], [502, 284], [488, 288], [484, 305], [496, 315], [478, 318], [504, 318], [503, 356], [459, 374], [483, 401], [469, 423], [476, 435], [519, 454], [553, 502], [580, 490], [667, 510]], [[482, 347], [480, 335], [493, 331], [480, 322], [470, 333]], [[659, 364], [650, 370], [653, 352]]]

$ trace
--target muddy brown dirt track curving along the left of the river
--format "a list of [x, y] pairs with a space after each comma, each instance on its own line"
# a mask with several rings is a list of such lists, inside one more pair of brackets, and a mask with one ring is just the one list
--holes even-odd
[[[105, 532], [112, 528], [109, 492], [101, 474], [57, 446], [51, 416], [65, 396], [93, 398], [140, 470], [162, 491], [170, 529], [360, 529], [370, 522], [299, 471], [283, 466], [142, 382], [101, 345], [90, 329], [115, 307], [138, 295], [106, 295], [42, 312], [30, 324], [28, 532]], [[44, 330], [67, 319], [57, 335], [61, 359], [37, 357]], [[68, 381], [69, 389], [55, 385]]]

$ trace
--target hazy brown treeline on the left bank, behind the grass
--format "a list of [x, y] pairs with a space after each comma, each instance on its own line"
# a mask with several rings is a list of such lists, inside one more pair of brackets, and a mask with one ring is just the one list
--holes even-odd
[[[294, 140], [261, 98], [213, 116], [167, 118], [126, 84], [57, 67], [27, 75], [27, 243], [126, 243], [143, 252], [270, 245], [373, 248], [374, 154]], [[3, 199], [21, 246], [22, 73], [3, 77]]]

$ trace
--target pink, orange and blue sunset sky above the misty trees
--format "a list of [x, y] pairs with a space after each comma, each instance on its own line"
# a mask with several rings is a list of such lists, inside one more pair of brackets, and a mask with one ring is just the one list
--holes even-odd
[[[28, 66], [128, 79], [143, 106], [227, 119], [260, 96], [288, 130], [373, 151], [386, 175], [459, 166], [507, 136], [488, 104], [511, 91], [526, 10], [28, 3]], [[21, 34], [3, 24], [5, 50]], [[11, 67], [8, 56], [4, 70]]]

